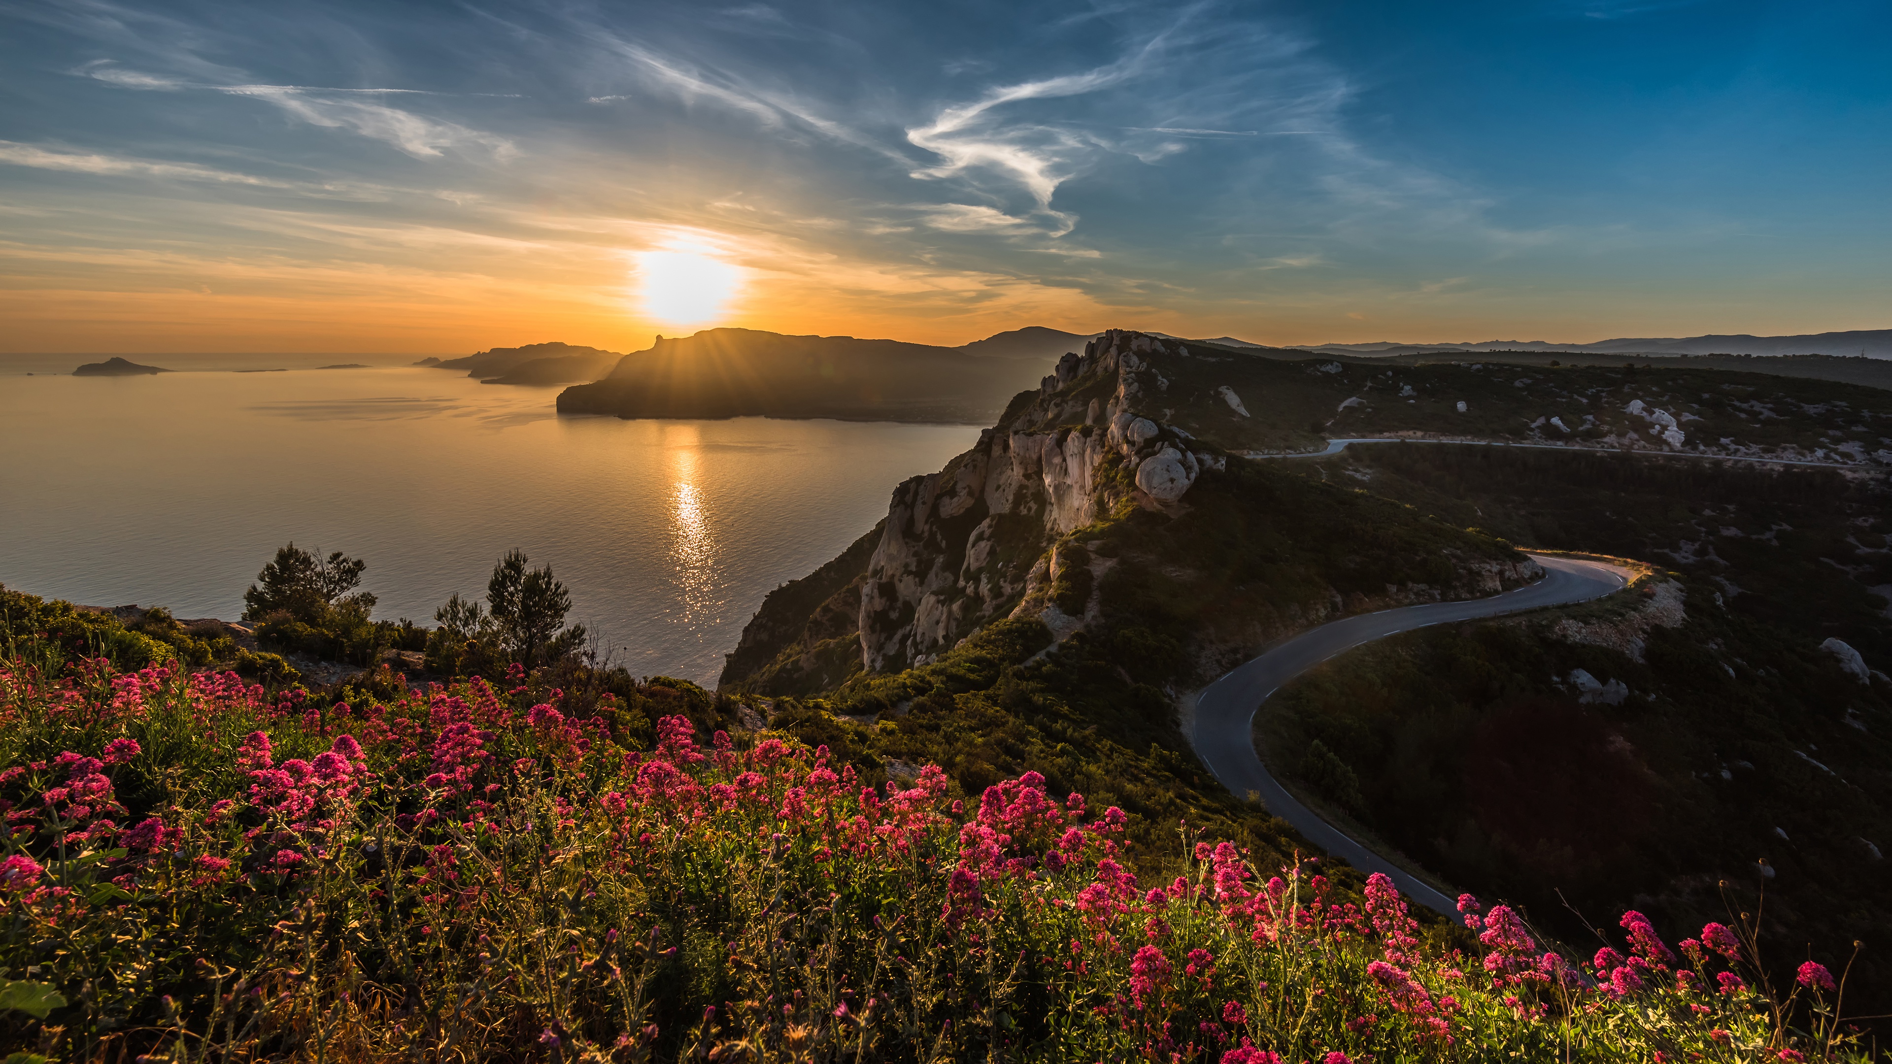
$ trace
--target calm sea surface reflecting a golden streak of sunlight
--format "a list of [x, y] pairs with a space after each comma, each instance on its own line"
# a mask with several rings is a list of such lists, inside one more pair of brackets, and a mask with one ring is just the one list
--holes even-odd
[[518, 547], [551, 562], [571, 619], [619, 663], [704, 683], [768, 591], [880, 521], [899, 481], [978, 439], [976, 426], [558, 417], [556, 388], [312, 369], [373, 356], [149, 356], [134, 362], [184, 371], [45, 375], [91, 360], [0, 356], [6, 587], [235, 619], [295, 540], [365, 559], [377, 617], [431, 625], [454, 591], [484, 596], [494, 559]]

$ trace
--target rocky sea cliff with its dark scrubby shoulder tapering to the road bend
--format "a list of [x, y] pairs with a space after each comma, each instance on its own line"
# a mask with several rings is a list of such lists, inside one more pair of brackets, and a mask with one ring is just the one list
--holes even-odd
[[1184, 653], [1207, 668], [1334, 613], [1534, 576], [1489, 538], [1232, 458], [1256, 426], [1228, 362], [1128, 331], [1067, 354], [971, 451], [899, 485], [878, 538], [772, 594], [723, 683], [814, 693], [925, 665], [999, 617], [1041, 619], [1056, 640], [1188, 629]]

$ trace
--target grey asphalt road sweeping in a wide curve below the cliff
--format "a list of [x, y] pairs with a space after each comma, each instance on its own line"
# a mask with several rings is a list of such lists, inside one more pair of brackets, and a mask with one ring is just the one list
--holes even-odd
[[1262, 765], [1254, 752], [1254, 714], [1283, 683], [1323, 661], [1398, 632], [1427, 625], [1497, 617], [1542, 606], [1587, 602], [1629, 585], [1631, 572], [1608, 562], [1531, 555], [1544, 566], [1544, 579], [1470, 602], [1428, 602], [1362, 613], [1309, 632], [1302, 632], [1268, 653], [1254, 657], [1196, 695], [1196, 714], [1188, 740], [1203, 765], [1235, 795], [1256, 793], [1268, 812], [1287, 820], [1296, 831], [1328, 854], [1345, 858], [1364, 873], [1387, 873], [1411, 897], [1445, 914], [1457, 914], [1457, 899], [1445, 897], [1411, 875], [1355, 842], [1347, 833], [1315, 816], [1294, 799]]

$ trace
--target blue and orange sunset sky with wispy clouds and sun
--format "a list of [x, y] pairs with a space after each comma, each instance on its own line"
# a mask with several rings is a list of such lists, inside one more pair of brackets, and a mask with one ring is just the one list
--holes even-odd
[[1892, 328], [1883, 0], [0, 0], [0, 350]]

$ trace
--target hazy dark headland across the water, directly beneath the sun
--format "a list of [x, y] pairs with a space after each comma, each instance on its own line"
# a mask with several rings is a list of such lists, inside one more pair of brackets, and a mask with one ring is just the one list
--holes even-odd
[[[566, 388], [558, 411], [986, 422], [1044, 371], [1037, 356], [1016, 354], [1042, 350], [1044, 337], [993, 341], [1005, 343], [991, 350], [1014, 354], [988, 358], [965, 348], [757, 329], [658, 337], [649, 350], [626, 354], [609, 377]], [[1050, 346], [1060, 346], [1056, 337]]]

